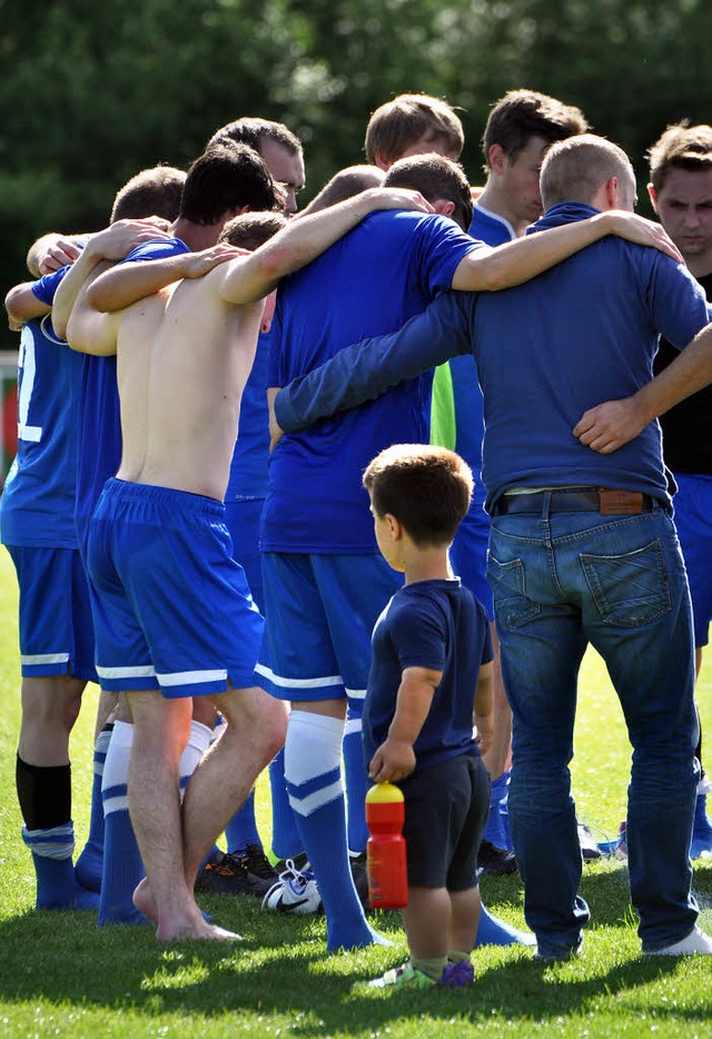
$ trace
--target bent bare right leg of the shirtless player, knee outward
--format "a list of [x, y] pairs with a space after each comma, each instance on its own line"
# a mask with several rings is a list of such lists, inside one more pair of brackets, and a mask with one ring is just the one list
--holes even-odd
[[287, 711], [264, 690], [230, 690], [214, 697], [227, 725], [190, 778], [184, 800], [184, 861], [192, 891], [200, 863], [255, 780], [283, 746]]

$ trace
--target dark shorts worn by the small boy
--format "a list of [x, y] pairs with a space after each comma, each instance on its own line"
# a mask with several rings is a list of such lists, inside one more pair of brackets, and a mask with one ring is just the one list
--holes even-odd
[[408, 885], [465, 891], [477, 883], [477, 853], [490, 811], [490, 774], [472, 755], [416, 771], [398, 783]]

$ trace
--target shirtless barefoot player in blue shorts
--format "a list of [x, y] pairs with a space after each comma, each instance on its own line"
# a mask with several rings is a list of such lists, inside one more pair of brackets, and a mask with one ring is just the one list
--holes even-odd
[[[274, 306], [263, 297], [387, 208], [431, 210], [417, 192], [374, 189], [295, 222], [249, 257], [218, 246], [115, 267], [87, 281], [70, 317], [75, 348], [118, 356], [123, 454], [92, 518], [89, 566], [106, 607], [98, 655], [113, 654], [127, 687], [134, 680], [129, 805], [147, 872], [135, 902], [165, 941], [235, 937], [204, 920], [195, 875], [285, 736], [283, 704], [251, 685], [261, 617], [221, 522], [241, 389]], [[100, 314], [92, 285], [139, 301]], [[196, 769], [181, 815], [178, 758], [196, 695], [210, 696], [227, 726]]]

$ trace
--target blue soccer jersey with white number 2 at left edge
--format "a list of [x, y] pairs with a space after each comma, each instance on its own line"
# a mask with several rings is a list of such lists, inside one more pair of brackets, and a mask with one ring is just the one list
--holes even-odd
[[[68, 268], [32, 291], [51, 306]], [[59, 339], [50, 315], [22, 327], [18, 359], [18, 453], [0, 504], [2, 542], [76, 548], [77, 402], [81, 357]]]

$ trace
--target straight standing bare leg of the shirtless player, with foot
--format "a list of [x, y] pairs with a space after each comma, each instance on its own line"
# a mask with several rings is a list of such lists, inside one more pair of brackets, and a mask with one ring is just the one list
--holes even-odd
[[154, 920], [161, 941], [227, 937], [204, 920], [185, 878], [178, 762], [190, 729], [191, 701], [165, 700], [151, 691], [130, 693], [129, 703], [129, 810], [147, 873], [134, 894], [136, 908]]

